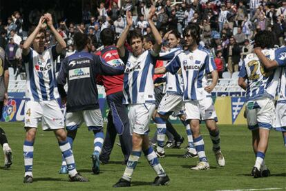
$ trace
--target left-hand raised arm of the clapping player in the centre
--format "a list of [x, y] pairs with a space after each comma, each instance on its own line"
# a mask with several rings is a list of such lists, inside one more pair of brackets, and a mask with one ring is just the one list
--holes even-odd
[[133, 24], [133, 20], [132, 20], [132, 15], [130, 11], [126, 11], [126, 28], [125, 30], [122, 32], [120, 39], [118, 39], [116, 47], [118, 50], [118, 53], [120, 54], [120, 57], [124, 57], [125, 56], [125, 48], [124, 48], [124, 43], [126, 41], [127, 38], [127, 34]]

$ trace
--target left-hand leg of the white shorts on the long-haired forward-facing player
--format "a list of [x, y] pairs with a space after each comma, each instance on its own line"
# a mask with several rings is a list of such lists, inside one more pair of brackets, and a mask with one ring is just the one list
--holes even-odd
[[200, 108], [198, 101], [188, 101], [184, 103], [184, 115], [186, 120], [198, 119], [200, 120]]

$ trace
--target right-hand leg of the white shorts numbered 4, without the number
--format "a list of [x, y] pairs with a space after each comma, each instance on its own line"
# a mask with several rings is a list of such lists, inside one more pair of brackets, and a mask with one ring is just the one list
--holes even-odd
[[43, 130], [56, 130], [64, 128], [64, 114], [61, 112], [57, 100], [41, 102], [44, 114], [42, 117]]

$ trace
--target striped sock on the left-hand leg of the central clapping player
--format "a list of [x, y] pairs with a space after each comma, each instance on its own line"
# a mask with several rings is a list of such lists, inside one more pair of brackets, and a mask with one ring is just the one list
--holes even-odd
[[132, 151], [131, 152], [131, 154], [128, 158], [122, 179], [125, 179], [126, 181], [131, 181], [131, 176], [133, 174], [133, 170], [135, 169], [137, 162], [138, 162], [140, 157], [141, 157], [141, 151]]

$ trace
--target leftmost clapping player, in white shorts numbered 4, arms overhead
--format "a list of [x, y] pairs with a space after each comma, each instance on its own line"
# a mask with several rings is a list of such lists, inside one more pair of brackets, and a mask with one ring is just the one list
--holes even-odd
[[[45, 50], [46, 26], [53, 32], [57, 45]], [[30, 48], [32, 46], [32, 48]], [[35, 30], [23, 44], [23, 62], [26, 66], [26, 97], [25, 129], [26, 139], [23, 144], [25, 177], [24, 183], [32, 183], [32, 161], [34, 143], [39, 120], [43, 130], [53, 130], [59, 148], [68, 165], [70, 181], [88, 181], [75, 169], [75, 159], [70, 143], [66, 140], [64, 131], [64, 116], [57, 103], [57, 83], [55, 79], [55, 59], [66, 48], [66, 43], [53, 26], [53, 19], [49, 13], [39, 19]]]

